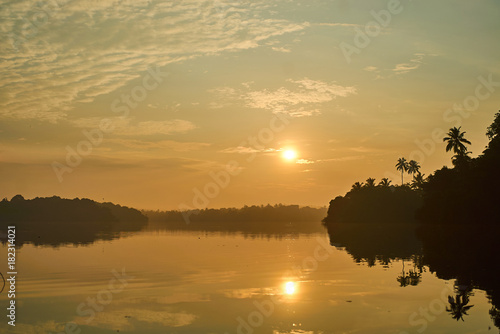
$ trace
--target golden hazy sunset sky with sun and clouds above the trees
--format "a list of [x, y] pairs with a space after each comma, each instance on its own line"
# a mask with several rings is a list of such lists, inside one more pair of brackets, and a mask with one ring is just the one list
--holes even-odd
[[400, 183], [400, 157], [451, 166], [453, 126], [481, 154], [500, 109], [496, 0], [0, 0], [0, 17], [2, 198], [325, 206]]

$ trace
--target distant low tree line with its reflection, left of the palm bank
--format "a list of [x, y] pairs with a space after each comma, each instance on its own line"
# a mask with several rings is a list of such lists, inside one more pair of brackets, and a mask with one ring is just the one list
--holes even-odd
[[[228, 232], [278, 236], [287, 233], [321, 233], [326, 207], [253, 205], [242, 208], [182, 211], [139, 211], [86, 198], [58, 196], [25, 199], [14, 196], [0, 201], [0, 226], [15, 225], [18, 245], [26, 243], [58, 247], [112, 240], [123, 233], [153, 230]], [[316, 223], [317, 222], [317, 223]], [[2, 240], [3, 242], [4, 240]]]

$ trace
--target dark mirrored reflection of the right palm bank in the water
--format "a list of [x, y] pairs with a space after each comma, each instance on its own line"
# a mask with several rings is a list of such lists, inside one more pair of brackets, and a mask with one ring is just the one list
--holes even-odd
[[[492, 225], [432, 224], [345, 224], [326, 223], [330, 244], [341, 247], [355, 262], [368, 266], [402, 262], [396, 281], [401, 287], [415, 286], [428, 269], [443, 280], [455, 279], [455, 296], [448, 296], [446, 311], [453, 319], [464, 321], [474, 306], [474, 289], [486, 291], [492, 304], [489, 311], [500, 328], [500, 293], [496, 270], [499, 228]], [[412, 268], [405, 266], [410, 261]]]

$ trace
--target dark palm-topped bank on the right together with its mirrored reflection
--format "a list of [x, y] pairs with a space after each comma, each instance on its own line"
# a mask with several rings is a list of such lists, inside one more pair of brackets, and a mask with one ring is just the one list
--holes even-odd
[[[465, 134], [454, 127], [443, 138], [446, 151], [454, 153], [452, 168], [425, 178], [418, 162], [400, 158], [395, 167], [401, 171], [401, 185], [387, 179], [356, 182], [330, 201], [323, 224], [331, 245], [356, 262], [387, 266], [401, 260], [401, 287], [418, 285], [425, 268], [440, 279], [455, 279], [446, 312], [457, 321], [464, 321], [473, 307], [469, 297], [474, 289], [486, 291], [489, 315], [500, 328], [500, 112], [478, 157], [470, 156]], [[410, 183], [404, 183], [405, 173], [413, 176]]]

